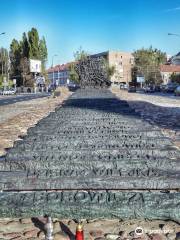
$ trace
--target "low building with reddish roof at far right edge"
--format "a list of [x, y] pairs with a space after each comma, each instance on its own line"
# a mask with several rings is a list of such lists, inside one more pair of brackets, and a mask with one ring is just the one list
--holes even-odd
[[163, 84], [167, 84], [171, 81], [172, 74], [180, 74], [180, 65], [161, 65], [160, 72]]

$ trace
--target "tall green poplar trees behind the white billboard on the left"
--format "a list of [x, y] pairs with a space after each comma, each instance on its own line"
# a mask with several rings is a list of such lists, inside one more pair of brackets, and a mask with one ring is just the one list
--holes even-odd
[[22, 40], [19, 42], [13, 39], [10, 45], [11, 77], [17, 79], [18, 85], [32, 85], [28, 60], [41, 60], [42, 74], [46, 75], [47, 55], [46, 40], [44, 37], [39, 39], [36, 28], [32, 28], [28, 34], [23, 33]]

